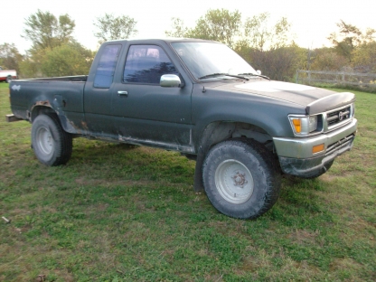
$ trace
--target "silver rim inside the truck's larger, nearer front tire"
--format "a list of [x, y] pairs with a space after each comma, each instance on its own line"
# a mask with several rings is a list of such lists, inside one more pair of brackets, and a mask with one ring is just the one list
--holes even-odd
[[237, 160], [226, 160], [215, 171], [215, 186], [224, 200], [240, 204], [247, 202], [253, 193], [252, 174]]

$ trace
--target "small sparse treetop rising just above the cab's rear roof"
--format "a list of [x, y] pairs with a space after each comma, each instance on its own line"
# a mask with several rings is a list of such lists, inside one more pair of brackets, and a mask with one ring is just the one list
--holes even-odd
[[103, 17], [97, 18], [97, 22], [94, 23], [99, 29], [99, 32], [94, 35], [99, 38], [99, 43], [127, 39], [138, 33], [136, 24], [136, 20], [127, 15], [115, 17], [113, 14], [105, 14]]

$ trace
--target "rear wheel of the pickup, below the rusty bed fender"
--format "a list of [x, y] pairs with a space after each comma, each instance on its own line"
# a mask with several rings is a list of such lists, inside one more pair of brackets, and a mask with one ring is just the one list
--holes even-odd
[[66, 164], [71, 158], [71, 135], [62, 129], [56, 115], [40, 115], [34, 119], [32, 145], [34, 154], [42, 164]]

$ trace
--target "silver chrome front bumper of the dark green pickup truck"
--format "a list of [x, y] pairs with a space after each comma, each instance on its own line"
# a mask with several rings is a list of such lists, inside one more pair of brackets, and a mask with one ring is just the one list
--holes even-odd
[[[353, 148], [358, 121], [332, 132], [307, 138], [273, 138], [279, 164], [285, 174], [313, 177], [326, 171], [338, 155]], [[324, 151], [314, 154], [314, 146], [324, 144]]]

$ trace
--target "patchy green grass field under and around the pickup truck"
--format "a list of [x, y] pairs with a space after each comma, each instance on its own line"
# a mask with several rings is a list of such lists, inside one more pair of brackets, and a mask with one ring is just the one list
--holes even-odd
[[240, 221], [194, 193], [194, 162], [177, 153], [77, 138], [67, 165], [39, 164], [31, 125], [5, 123], [7, 86], [1, 281], [376, 280], [375, 94], [354, 92], [353, 151], [318, 179], [284, 179], [270, 211]]

